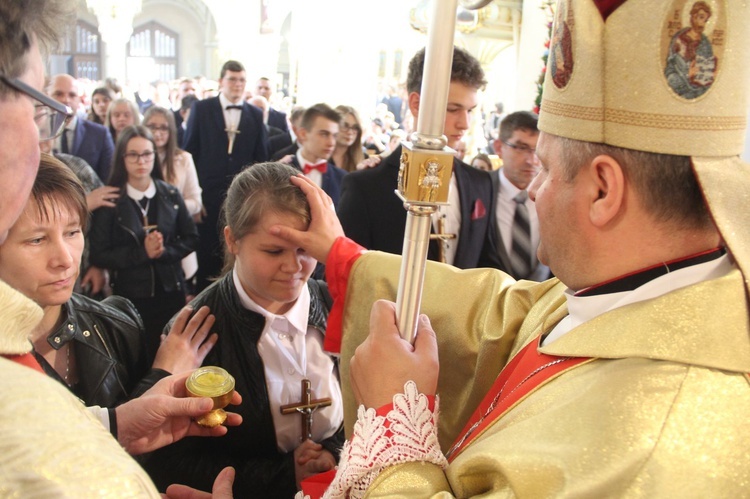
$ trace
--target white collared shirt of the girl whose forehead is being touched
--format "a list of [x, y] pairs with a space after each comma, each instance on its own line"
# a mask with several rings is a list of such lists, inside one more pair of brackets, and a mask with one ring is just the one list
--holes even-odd
[[279, 451], [291, 452], [300, 444], [302, 416], [283, 415], [280, 407], [300, 402], [303, 379], [310, 380], [314, 399], [329, 397], [333, 402], [313, 414], [313, 440], [325, 440], [341, 426], [344, 411], [333, 359], [323, 351], [323, 332], [307, 323], [310, 290], [304, 286], [294, 305], [285, 314], [276, 315], [248, 296], [236, 268], [232, 270], [232, 279], [242, 306], [266, 319], [258, 341], [258, 353], [263, 359]]

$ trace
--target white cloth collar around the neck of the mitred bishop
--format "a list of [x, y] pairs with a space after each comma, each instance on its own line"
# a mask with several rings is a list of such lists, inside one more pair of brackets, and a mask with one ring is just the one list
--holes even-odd
[[632, 291], [576, 296], [573, 290], [566, 289], [565, 300], [568, 302], [568, 315], [557, 323], [552, 332], [544, 339], [542, 345], [547, 345], [555, 341], [573, 328], [605, 312], [624, 307], [625, 305], [652, 300], [676, 289], [691, 286], [699, 282], [718, 279], [727, 275], [733, 268], [734, 265], [729, 255], [724, 255], [709, 262], [668, 272]]

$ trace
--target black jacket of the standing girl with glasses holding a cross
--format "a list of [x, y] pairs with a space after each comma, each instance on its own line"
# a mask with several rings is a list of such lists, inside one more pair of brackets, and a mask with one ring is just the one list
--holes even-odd
[[150, 298], [158, 281], [166, 292], [184, 289], [181, 260], [198, 247], [198, 231], [193, 217], [176, 187], [154, 180], [155, 217], [164, 236], [164, 254], [151, 260], [143, 240], [142, 214], [125, 192], [114, 208], [94, 211], [89, 241], [92, 265], [111, 271], [112, 290], [127, 298]]

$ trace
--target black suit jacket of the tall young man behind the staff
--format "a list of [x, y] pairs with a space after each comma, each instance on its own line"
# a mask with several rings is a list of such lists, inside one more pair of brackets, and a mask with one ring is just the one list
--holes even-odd
[[[406, 210], [395, 194], [398, 186], [401, 146], [375, 168], [351, 172], [341, 185], [336, 212], [346, 235], [367, 249], [400, 255], [404, 244]], [[494, 214], [489, 174], [453, 160], [461, 200], [461, 229], [453, 265], [462, 268], [500, 267], [492, 245]], [[437, 260], [432, 241], [430, 260]]]

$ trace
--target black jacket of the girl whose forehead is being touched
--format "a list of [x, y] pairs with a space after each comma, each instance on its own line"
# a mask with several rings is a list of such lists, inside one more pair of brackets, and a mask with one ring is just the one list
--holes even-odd
[[[308, 281], [308, 286], [309, 324], [324, 331], [328, 309], [323, 288], [314, 280]], [[219, 471], [231, 465], [237, 471], [235, 497], [294, 497], [294, 452], [283, 454], [276, 446], [263, 360], [258, 352], [265, 319], [242, 306], [231, 272], [206, 288], [191, 305], [195, 310], [207, 305], [216, 315], [213, 330], [219, 334], [219, 341], [203, 364], [221, 366], [234, 376], [242, 404], [229, 409], [242, 415], [242, 424], [229, 427], [221, 438], [185, 438], [160, 449], [147, 458], [144, 468], [159, 490], [172, 483], [211, 490]], [[343, 428], [320, 443], [338, 459], [344, 444]]]

